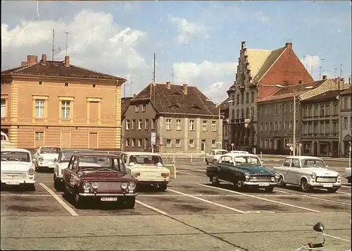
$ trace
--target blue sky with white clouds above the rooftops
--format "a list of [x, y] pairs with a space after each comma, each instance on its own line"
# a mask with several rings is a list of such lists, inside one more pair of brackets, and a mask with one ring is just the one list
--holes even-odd
[[[1, 1], [1, 70], [27, 55], [127, 78], [122, 97], [153, 77], [199, 87], [221, 102], [241, 41], [251, 49], [293, 43], [313, 78], [351, 76], [350, 1]], [[342, 64], [342, 66], [341, 66]], [[131, 85], [132, 82], [132, 85]]]

